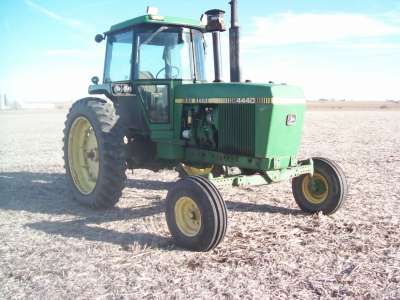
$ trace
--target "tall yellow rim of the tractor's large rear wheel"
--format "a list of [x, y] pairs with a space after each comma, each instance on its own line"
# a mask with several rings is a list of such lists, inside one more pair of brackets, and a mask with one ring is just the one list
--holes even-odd
[[76, 188], [90, 194], [99, 175], [99, 150], [94, 129], [85, 117], [76, 118], [69, 130], [68, 163]]

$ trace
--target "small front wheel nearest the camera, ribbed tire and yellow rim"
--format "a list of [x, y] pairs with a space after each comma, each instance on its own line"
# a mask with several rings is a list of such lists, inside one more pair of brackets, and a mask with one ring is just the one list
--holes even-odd
[[221, 194], [205, 178], [180, 179], [168, 192], [166, 219], [177, 246], [209, 251], [224, 238], [227, 211]]

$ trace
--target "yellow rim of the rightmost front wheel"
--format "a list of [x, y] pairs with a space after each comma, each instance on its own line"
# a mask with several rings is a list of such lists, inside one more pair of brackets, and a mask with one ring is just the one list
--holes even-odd
[[314, 175], [305, 176], [301, 184], [301, 189], [306, 200], [312, 204], [321, 204], [328, 197], [328, 181], [318, 172]]

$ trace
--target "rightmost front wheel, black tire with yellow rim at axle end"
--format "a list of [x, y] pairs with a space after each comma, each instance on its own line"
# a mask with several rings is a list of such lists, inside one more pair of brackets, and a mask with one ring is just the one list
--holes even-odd
[[347, 182], [342, 169], [326, 158], [313, 158], [314, 174], [293, 178], [292, 191], [298, 206], [305, 212], [335, 213], [347, 195]]

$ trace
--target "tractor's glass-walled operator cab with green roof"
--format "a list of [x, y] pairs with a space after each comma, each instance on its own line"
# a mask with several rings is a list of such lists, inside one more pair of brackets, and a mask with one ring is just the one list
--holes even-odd
[[103, 84], [89, 93], [120, 103], [133, 131], [170, 130], [175, 86], [205, 81], [203, 32], [200, 22], [151, 14], [112, 26], [96, 36], [107, 39]]

